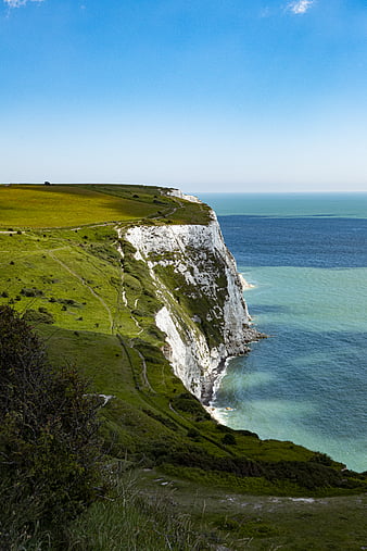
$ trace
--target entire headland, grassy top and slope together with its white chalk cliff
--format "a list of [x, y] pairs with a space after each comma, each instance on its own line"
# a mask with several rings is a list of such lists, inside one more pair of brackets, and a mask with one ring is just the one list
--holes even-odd
[[226, 359], [261, 337], [207, 205], [107, 184], [10, 186], [2, 201], [0, 304], [35, 327], [52, 365], [76, 365], [91, 381], [109, 473], [114, 458], [226, 491], [366, 491], [365, 474], [233, 430], [199, 402], [210, 402]]

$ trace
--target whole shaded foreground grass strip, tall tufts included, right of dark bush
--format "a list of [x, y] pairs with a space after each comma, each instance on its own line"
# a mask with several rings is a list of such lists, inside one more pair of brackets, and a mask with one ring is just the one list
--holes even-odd
[[[261, 497], [140, 469], [119, 475], [115, 501], [87, 511], [71, 527], [68, 543], [73, 549], [101, 551], [186, 550], [190, 546], [357, 551], [366, 544], [366, 506], [367, 496]], [[161, 539], [164, 535], [166, 540]]]

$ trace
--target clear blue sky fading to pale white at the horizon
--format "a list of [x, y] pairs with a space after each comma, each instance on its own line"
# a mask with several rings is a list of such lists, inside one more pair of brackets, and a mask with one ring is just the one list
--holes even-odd
[[365, 0], [0, 0], [0, 180], [367, 191]]

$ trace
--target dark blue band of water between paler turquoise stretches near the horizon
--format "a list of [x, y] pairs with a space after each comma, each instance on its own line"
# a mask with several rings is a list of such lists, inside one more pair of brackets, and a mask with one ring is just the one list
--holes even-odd
[[367, 220], [229, 215], [219, 223], [240, 265], [367, 266]]

